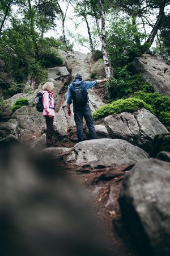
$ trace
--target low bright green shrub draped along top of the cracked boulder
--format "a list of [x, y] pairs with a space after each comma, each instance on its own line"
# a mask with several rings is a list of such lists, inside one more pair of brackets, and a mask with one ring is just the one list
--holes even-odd
[[109, 114], [118, 114], [122, 112], [135, 112], [140, 108], [146, 108], [154, 114], [154, 110], [149, 104], [137, 98], [126, 98], [113, 101], [110, 104], [101, 106], [100, 109], [96, 110], [93, 114], [94, 119], [105, 117]]

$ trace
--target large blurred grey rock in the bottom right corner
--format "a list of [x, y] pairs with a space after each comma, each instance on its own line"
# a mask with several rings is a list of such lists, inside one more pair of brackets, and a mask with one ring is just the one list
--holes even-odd
[[170, 164], [140, 160], [126, 174], [118, 196], [122, 224], [142, 255], [170, 254]]

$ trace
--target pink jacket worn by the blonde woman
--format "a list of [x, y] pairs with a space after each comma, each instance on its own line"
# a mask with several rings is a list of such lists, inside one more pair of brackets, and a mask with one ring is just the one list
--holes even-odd
[[[54, 117], [55, 115], [54, 109], [51, 109], [51, 108], [54, 108], [53, 93], [48, 92], [47, 90], [44, 90], [43, 93], [44, 93], [42, 96], [42, 103], [44, 105], [43, 115], [52, 115]], [[49, 98], [49, 94], [50, 94], [50, 98]]]

